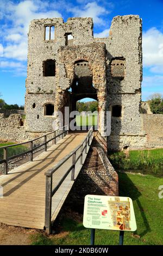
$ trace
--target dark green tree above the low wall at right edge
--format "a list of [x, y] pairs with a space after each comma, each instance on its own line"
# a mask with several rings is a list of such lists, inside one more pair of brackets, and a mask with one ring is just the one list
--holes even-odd
[[149, 106], [153, 114], [163, 114], [163, 96], [160, 93], [152, 94], [149, 97]]

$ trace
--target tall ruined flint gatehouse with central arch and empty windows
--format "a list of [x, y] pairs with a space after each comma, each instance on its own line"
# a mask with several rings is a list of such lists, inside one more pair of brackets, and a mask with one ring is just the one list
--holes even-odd
[[93, 38], [91, 18], [39, 19], [30, 23], [26, 80], [26, 131], [53, 129], [53, 112], [76, 110], [84, 97], [111, 111], [109, 149], [141, 148], [142, 21], [116, 16], [107, 38]]

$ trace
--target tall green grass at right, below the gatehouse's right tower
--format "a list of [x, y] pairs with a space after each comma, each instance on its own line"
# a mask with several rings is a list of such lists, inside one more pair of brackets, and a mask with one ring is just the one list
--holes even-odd
[[163, 176], [163, 149], [132, 150], [128, 156], [122, 151], [110, 153], [109, 160], [116, 169]]

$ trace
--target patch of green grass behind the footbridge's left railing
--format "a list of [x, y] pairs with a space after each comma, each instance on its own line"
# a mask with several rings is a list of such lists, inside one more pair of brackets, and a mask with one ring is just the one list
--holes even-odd
[[[3, 149], [1, 147], [8, 146], [8, 145], [14, 145], [14, 142], [8, 142], [8, 143], [1, 143], [0, 144], [0, 160], [3, 159]], [[8, 148], [8, 157], [18, 155], [20, 153], [26, 152], [28, 148], [24, 145], [17, 145], [13, 146], [11, 148]]]

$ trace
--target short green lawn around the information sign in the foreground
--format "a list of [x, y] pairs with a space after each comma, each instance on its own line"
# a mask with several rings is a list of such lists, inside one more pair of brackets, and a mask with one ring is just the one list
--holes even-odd
[[[137, 223], [134, 233], [125, 232], [124, 245], [162, 245], [163, 199], [158, 197], [158, 187], [163, 185], [163, 178], [128, 173], [118, 175], [120, 196], [133, 199]], [[32, 245], [90, 245], [90, 230], [84, 228], [82, 222], [63, 218], [61, 229], [64, 236], [32, 235]], [[118, 235], [118, 231], [97, 229], [95, 245], [117, 245]]]

